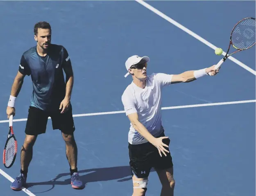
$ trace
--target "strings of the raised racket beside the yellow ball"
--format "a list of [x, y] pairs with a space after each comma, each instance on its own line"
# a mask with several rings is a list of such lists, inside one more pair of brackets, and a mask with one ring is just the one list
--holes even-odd
[[255, 44], [256, 39], [256, 20], [249, 18], [242, 20], [233, 30], [231, 40], [234, 47], [247, 49]]

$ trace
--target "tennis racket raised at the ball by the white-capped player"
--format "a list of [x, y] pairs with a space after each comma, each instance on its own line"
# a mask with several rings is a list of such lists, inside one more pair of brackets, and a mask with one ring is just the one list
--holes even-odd
[[[216, 70], [220, 68], [221, 64], [224, 63], [226, 59], [232, 54], [247, 50], [255, 45], [255, 28], [256, 20], [252, 17], [244, 18], [236, 23], [230, 34], [229, 48], [227, 50], [227, 54], [224, 56], [223, 59], [219, 61], [219, 63], [217, 63], [217, 65], [215, 65]], [[228, 54], [231, 45], [236, 49], [236, 51]], [[209, 75], [212, 74], [209, 73]]]

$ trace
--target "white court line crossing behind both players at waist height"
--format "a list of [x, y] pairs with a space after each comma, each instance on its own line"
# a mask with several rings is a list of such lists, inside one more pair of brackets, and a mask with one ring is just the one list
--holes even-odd
[[[245, 100], [245, 101], [229, 101], [229, 102], [219, 102], [219, 103], [210, 103], [210, 104], [194, 104], [194, 105], [186, 105], [186, 106], [171, 106], [171, 107], [162, 107], [162, 110], [171, 110], [171, 109], [179, 109], [179, 108], [196, 108], [203, 106], [220, 106], [220, 105], [229, 105], [229, 104], [245, 104], [245, 103], [254, 103], [256, 100]], [[125, 111], [113, 111], [113, 112], [99, 112], [99, 113], [87, 113], [87, 114], [75, 114], [73, 117], [81, 117], [81, 116], [96, 116], [96, 115], [107, 115], [107, 114], [119, 114], [125, 113]], [[50, 117], [48, 118], [50, 119]], [[26, 121], [27, 118], [22, 119], [14, 119], [14, 122], [18, 121]], [[0, 123], [9, 122], [9, 120], [0, 120]]]

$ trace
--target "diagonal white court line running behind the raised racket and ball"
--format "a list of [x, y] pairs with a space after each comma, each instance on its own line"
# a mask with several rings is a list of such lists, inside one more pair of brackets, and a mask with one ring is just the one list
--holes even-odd
[[[217, 47], [213, 44], [211, 44], [210, 42], [206, 41], [204, 38], [200, 37], [199, 35], [195, 34], [194, 32], [190, 31], [189, 29], [187, 29], [186, 27], [182, 26], [181, 24], [177, 23], [175, 20], [173, 20], [172, 18], [166, 16], [165, 14], [163, 14], [161, 11], [155, 9], [154, 7], [152, 7], [151, 5], [147, 4], [146, 2], [144, 2], [143, 0], [136, 0], [138, 3], [140, 3], [141, 5], [143, 5], [144, 7], [146, 7], [147, 9], [150, 9], [151, 11], [153, 11], [155, 14], [161, 16], [162, 18], [164, 18], [165, 20], [167, 20], [168, 22], [172, 23], [173, 25], [175, 25], [176, 27], [182, 29], [184, 32], [190, 34], [191, 36], [193, 36], [194, 38], [198, 39], [199, 41], [201, 41], [202, 43], [208, 45], [209, 47], [211, 47], [213, 50], [215, 50]], [[230, 29], [231, 30], [231, 29]], [[223, 52], [222, 55], [225, 56], [227, 53]], [[245, 70], [251, 72], [252, 74], [256, 75], [256, 71], [254, 71], [253, 69], [249, 68], [247, 65], [245, 65], [244, 63], [238, 61], [237, 59], [235, 59], [233, 56], [229, 56], [229, 58], [231, 61], [233, 61], [234, 63], [238, 64], [239, 66], [241, 66], [242, 68], [244, 68]]]

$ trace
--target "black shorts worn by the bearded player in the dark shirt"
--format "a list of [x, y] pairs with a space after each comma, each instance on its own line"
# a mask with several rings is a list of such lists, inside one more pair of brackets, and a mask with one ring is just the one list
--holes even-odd
[[52, 119], [52, 128], [59, 129], [62, 133], [72, 134], [75, 124], [72, 116], [72, 106], [66, 113], [60, 111], [46, 112], [39, 108], [29, 106], [25, 133], [27, 135], [39, 135], [45, 133], [48, 117]]

